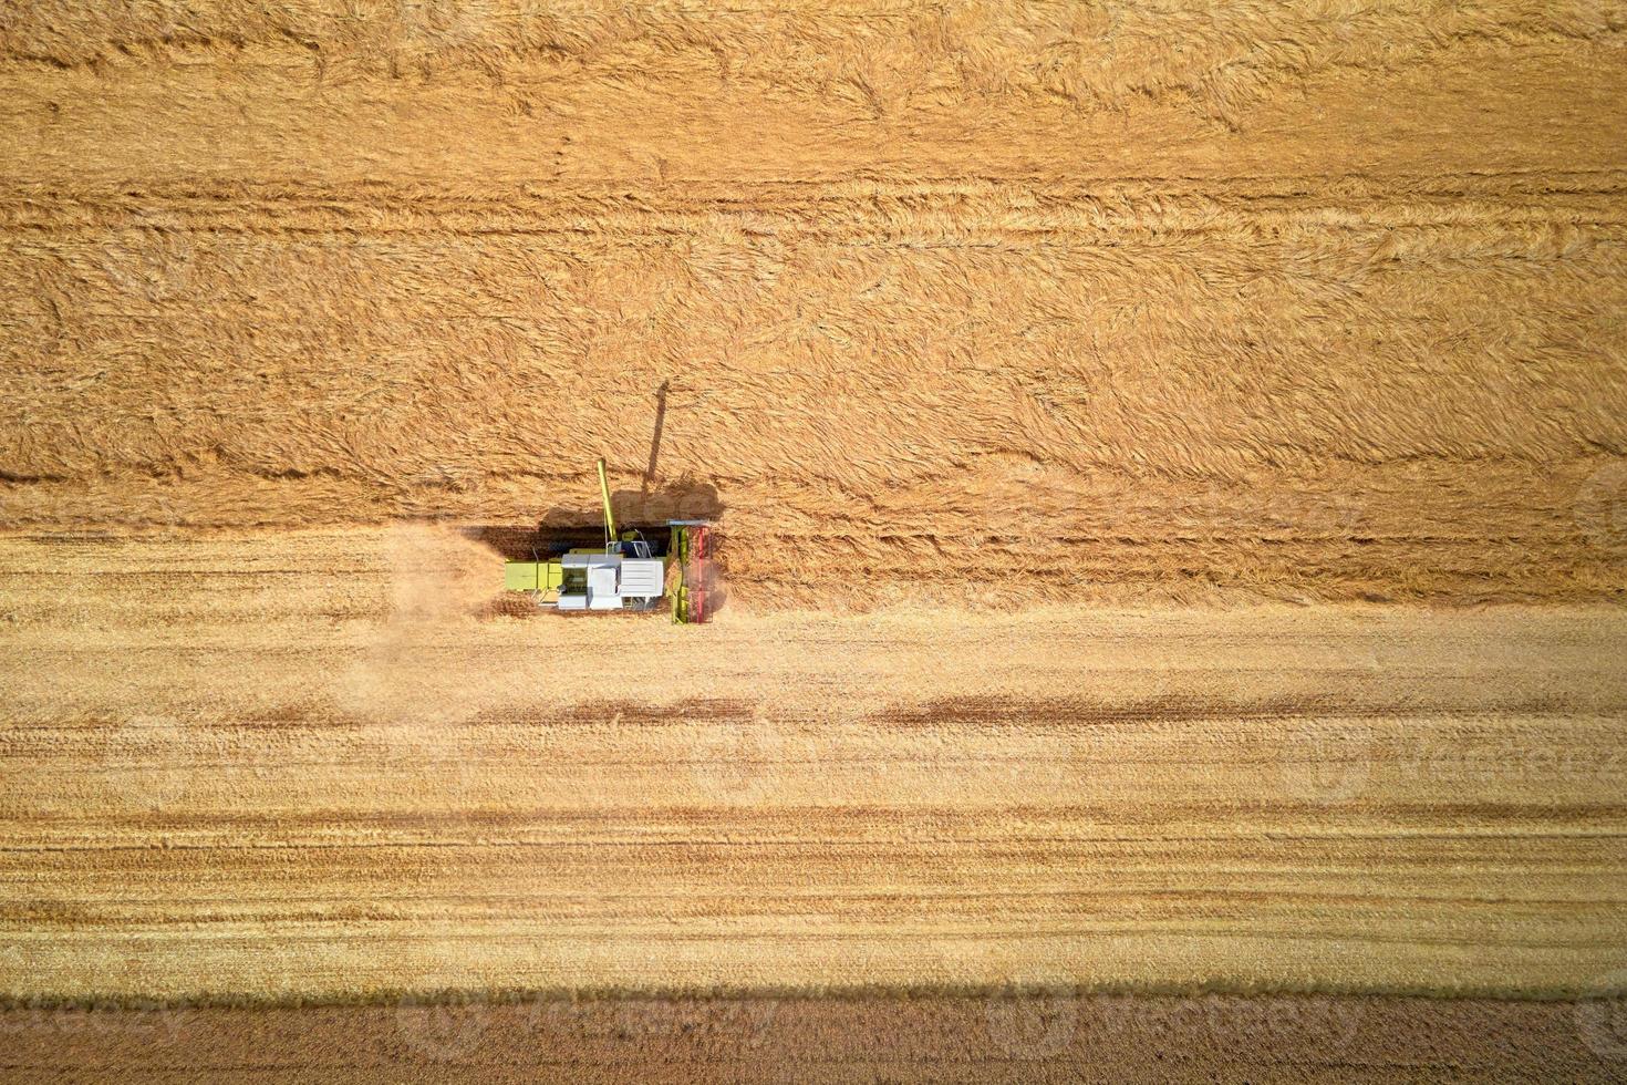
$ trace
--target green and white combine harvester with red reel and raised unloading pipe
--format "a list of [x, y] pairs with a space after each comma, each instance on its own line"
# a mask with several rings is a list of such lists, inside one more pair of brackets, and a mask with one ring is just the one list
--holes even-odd
[[711, 618], [711, 524], [667, 521], [665, 543], [633, 529], [617, 534], [610, 483], [599, 460], [605, 545], [576, 548], [503, 566], [503, 587], [526, 592], [539, 607], [563, 613], [652, 613], [662, 602], [678, 625]]

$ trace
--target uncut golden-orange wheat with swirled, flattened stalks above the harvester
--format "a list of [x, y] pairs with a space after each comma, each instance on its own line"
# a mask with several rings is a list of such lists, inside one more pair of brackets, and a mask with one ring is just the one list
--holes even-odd
[[39, 3], [0, 47], [15, 525], [591, 522], [607, 455], [770, 607], [1620, 590], [1620, 5]]

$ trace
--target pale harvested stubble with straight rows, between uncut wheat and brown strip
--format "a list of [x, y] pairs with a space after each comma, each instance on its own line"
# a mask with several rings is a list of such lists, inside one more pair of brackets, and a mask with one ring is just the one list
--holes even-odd
[[691, 630], [482, 617], [495, 564], [405, 527], [0, 551], [7, 984], [1611, 989], [1616, 610]]

